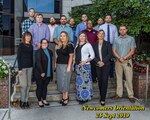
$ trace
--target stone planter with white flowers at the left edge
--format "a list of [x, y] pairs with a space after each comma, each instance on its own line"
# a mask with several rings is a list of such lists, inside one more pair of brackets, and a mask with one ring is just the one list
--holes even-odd
[[10, 65], [0, 57], [0, 108], [8, 107], [8, 75]]

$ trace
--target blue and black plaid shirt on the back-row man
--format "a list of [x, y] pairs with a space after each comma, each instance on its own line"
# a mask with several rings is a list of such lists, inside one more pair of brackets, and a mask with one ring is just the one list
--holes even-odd
[[36, 20], [30, 20], [29, 18], [24, 20], [22, 22], [22, 34], [25, 33], [26, 31], [28, 31], [28, 29], [30, 28], [30, 26], [33, 24], [33, 23], [36, 23]]

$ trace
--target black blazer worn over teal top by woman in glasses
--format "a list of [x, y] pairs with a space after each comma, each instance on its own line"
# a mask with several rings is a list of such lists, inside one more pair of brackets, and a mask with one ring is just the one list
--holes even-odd
[[[51, 65], [51, 76], [50, 79], [53, 78], [53, 65], [52, 65], [52, 57], [53, 57], [53, 52], [48, 49], [49, 54], [50, 54], [50, 65]], [[39, 50], [36, 51], [35, 54], [35, 73], [36, 76], [38, 77], [38, 79], [45, 79], [47, 76], [47, 67], [48, 67], [48, 58], [46, 56], [46, 54], [44, 53], [44, 50], [42, 48], [40, 48]], [[41, 73], [45, 73], [45, 77], [42, 78], [41, 77]]]

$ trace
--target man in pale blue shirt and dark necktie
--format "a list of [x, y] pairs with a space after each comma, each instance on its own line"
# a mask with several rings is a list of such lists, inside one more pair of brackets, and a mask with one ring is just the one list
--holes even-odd
[[[101, 25], [99, 27], [99, 30], [104, 30], [105, 32], [105, 37], [104, 40], [110, 42], [110, 44], [113, 44], [113, 41], [118, 37], [118, 30], [117, 27], [111, 23], [112, 18], [110, 15], [106, 15], [105, 17], [105, 24]], [[110, 67], [110, 73], [109, 77], [111, 80], [114, 79], [114, 62], [112, 60], [111, 62], [111, 67]]]

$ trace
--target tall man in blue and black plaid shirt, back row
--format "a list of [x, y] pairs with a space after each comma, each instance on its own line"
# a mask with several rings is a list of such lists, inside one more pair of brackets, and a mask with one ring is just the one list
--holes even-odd
[[22, 35], [23, 35], [26, 31], [28, 31], [28, 29], [30, 28], [30, 26], [31, 26], [33, 23], [36, 23], [36, 20], [35, 20], [35, 17], [34, 17], [34, 16], [35, 16], [35, 10], [34, 10], [34, 8], [30, 8], [28, 14], [29, 14], [29, 18], [26, 19], [26, 20], [24, 20], [24, 21], [22, 22], [22, 26], [21, 26], [21, 28], [22, 28]]

